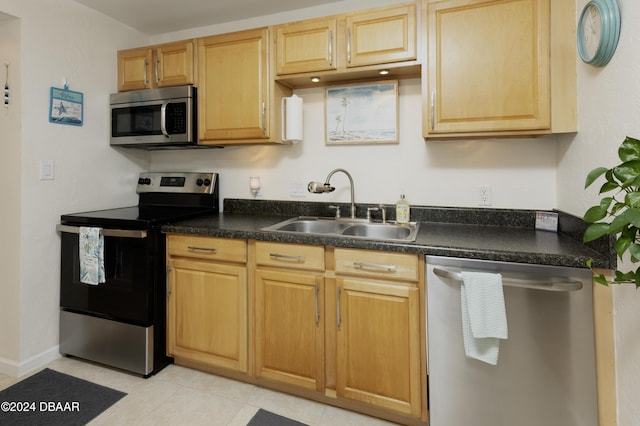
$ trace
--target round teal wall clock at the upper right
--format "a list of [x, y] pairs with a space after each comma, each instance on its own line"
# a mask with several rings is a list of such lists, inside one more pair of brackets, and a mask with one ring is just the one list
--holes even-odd
[[609, 63], [620, 37], [620, 8], [616, 0], [591, 0], [578, 21], [578, 53], [587, 64]]

